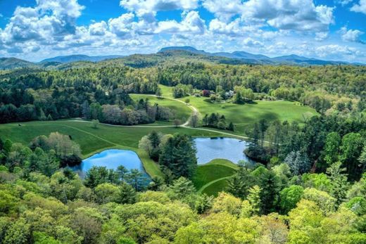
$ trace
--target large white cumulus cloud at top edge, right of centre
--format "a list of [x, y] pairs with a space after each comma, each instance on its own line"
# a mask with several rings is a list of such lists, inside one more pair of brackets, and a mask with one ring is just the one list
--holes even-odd
[[334, 23], [334, 8], [313, 0], [204, 0], [203, 7], [224, 22], [241, 15], [246, 23], [266, 22], [279, 30], [325, 32]]

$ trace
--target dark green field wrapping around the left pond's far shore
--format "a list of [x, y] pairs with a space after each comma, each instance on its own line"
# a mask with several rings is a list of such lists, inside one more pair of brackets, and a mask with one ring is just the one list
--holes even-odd
[[[18, 126], [18, 124], [21, 124], [21, 126]], [[0, 124], [1, 139], [11, 139], [13, 142], [23, 143], [24, 145], [28, 145], [36, 136], [48, 136], [54, 131], [70, 135], [73, 141], [80, 144], [83, 158], [87, 158], [107, 148], [134, 150], [141, 158], [148, 174], [151, 176], [162, 176], [156, 162], [153, 162], [143, 150], [138, 149], [141, 137], [153, 130], [160, 131], [163, 134], [182, 133], [200, 137], [220, 136], [220, 134], [212, 131], [175, 127], [115, 127], [99, 124], [99, 127], [95, 129], [91, 123], [68, 120]]]

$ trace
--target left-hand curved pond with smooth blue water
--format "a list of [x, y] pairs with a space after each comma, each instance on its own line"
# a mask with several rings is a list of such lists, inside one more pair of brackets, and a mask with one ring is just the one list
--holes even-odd
[[150, 179], [149, 174], [145, 172], [144, 166], [137, 155], [132, 150], [110, 149], [103, 150], [101, 153], [96, 153], [87, 159], [82, 160], [80, 165], [72, 167], [72, 170], [77, 172], [81, 178], [84, 178], [87, 171], [93, 166], [106, 167], [107, 169], [117, 169], [123, 165], [126, 169], [139, 169], [144, 177]]

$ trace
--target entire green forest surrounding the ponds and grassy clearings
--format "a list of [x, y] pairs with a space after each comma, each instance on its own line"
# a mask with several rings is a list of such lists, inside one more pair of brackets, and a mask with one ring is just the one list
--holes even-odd
[[[245, 153], [257, 163], [232, 164], [233, 174], [217, 179], [227, 183], [217, 195], [194, 185], [196, 147], [184, 133], [155, 127], [135, 141], [160, 172], [148, 185], [125, 167], [92, 167], [81, 179], [68, 168], [82, 160], [70, 135], [55, 131], [23, 144], [0, 135], [0, 243], [366, 243], [365, 66], [227, 65], [165, 55], [0, 71], [0, 122], [82, 117], [102, 131], [99, 121], [176, 119], [136, 94], [180, 98], [181, 106], [196, 98], [241, 108], [289, 100], [318, 113], [303, 114], [301, 123], [253, 122]], [[171, 94], [163, 94], [166, 86]], [[222, 111], [193, 111], [176, 131], [242, 134]]]

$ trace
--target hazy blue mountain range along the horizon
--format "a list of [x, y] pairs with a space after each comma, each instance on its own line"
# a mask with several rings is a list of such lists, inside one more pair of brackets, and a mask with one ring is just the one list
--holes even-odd
[[[39, 63], [32, 63], [18, 58], [0, 58], [0, 70], [10, 70], [14, 68], [72, 68], [72, 63], [85, 62], [98, 63], [105, 60], [117, 60], [125, 65], [132, 67], [144, 67], [141, 65], [153, 65], [158, 60], [164, 60], [166, 57], [186, 57], [199, 58], [214, 63], [226, 64], [255, 64], [255, 65], [365, 65], [362, 63], [348, 63], [343, 61], [320, 60], [316, 58], [306, 58], [303, 56], [289, 55], [270, 58], [261, 54], [247, 53], [245, 51], [234, 51], [232, 53], [218, 52], [208, 53], [203, 50], [197, 50], [191, 46], [169, 46], [160, 49], [158, 53], [139, 54], [131, 56], [87, 56], [87, 55], [70, 55], [57, 56], [55, 58], [47, 58]], [[136, 64], [137, 63], [137, 64]], [[80, 63], [79, 63], [80, 64]]]

